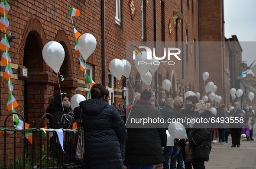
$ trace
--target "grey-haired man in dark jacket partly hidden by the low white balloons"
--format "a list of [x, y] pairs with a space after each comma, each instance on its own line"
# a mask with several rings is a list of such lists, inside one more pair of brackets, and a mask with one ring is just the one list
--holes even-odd
[[[175, 114], [173, 107], [174, 107], [174, 100], [172, 98], [168, 98], [166, 100], [165, 108], [163, 108], [160, 111], [165, 122], [166, 122], [165, 123], [166, 130], [168, 130], [168, 126], [170, 124], [169, 122], [171, 122], [172, 119], [176, 119], [176, 114]], [[169, 168], [169, 160], [172, 155], [173, 147], [174, 146], [166, 146], [164, 148], [164, 157], [165, 157], [165, 161], [163, 163], [164, 169], [170, 169]]]

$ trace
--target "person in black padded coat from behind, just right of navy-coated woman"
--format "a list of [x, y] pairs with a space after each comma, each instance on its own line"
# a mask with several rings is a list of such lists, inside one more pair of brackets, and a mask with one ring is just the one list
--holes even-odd
[[[126, 145], [126, 163], [130, 169], [164, 162], [162, 147], [166, 146], [165, 124], [160, 122], [162, 115], [150, 102], [151, 92], [145, 90], [140, 100], [130, 108], [127, 114], [128, 140]], [[157, 121], [159, 119], [159, 121]]]

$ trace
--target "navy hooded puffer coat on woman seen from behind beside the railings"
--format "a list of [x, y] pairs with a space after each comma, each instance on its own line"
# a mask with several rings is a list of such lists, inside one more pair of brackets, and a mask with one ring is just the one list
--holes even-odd
[[80, 118], [83, 108], [85, 167], [87, 169], [123, 169], [119, 143], [126, 140], [127, 131], [116, 108], [106, 99], [88, 99], [75, 108]]

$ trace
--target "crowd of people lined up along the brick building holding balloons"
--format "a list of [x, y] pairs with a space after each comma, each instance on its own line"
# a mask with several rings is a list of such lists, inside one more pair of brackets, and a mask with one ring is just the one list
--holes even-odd
[[[91, 88], [91, 99], [80, 102], [73, 112], [70, 110], [70, 98], [66, 93], [55, 96], [47, 108], [50, 128], [71, 128], [74, 121], [80, 119], [82, 111], [85, 144], [85, 168], [88, 169], [123, 169], [123, 157], [120, 144], [126, 143], [125, 163], [130, 169], [153, 169], [156, 164], [163, 164], [164, 169], [205, 169], [204, 163], [209, 160], [214, 131], [218, 131], [218, 144], [228, 144], [229, 134], [232, 137], [231, 147], [240, 147], [241, 134], [247, 140], [253, 140], [254, 112], [245, 105], [239, 108], [239, 102], [231, 105], [220, 104], [216, 115], [211, 112], [209, 102], [198, 100], [196, 96], [162, 98], [154, 107], [151, 102], [152, 92], [144, 90], [135, 92], [132, 102], [126, 106], [126, 118], [141, 119], [193, 119], [189, 124], [183, 121], [186, 139], [178, 139], [175, 146], [167, 146], [168, 126], [170, 123], [128, 123], [125, 126], [119, 113], [110, 105], [108, 90], [101, 84]], [[185, 102], [184, 102], [185, 101]], [[207, 123], [197, 119], [243, 118], [238, 123]], [[50, 140], [51, 147], [59, 146]], [[187, 160], [186, 146], [194, 149], [194, 159]], [[50, 148], [51, 148], [50, 147]], [[52, 150], [54, 152], [54, 150]]]

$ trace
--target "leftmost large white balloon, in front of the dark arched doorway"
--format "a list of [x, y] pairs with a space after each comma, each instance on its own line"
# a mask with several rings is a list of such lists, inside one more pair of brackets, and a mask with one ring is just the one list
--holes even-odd
[[65, 58], [65, 51], [57, 41], [49, 41], [43, 47], [42, 56], [45, 63], [58, 73]]

